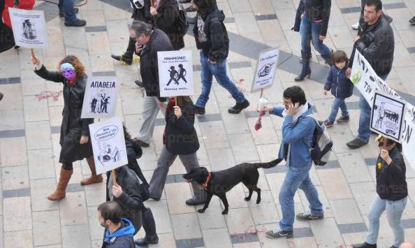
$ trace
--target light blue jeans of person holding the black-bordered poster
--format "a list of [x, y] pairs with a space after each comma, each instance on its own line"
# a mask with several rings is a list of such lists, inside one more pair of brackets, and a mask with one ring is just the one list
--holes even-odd
[[379, 234], [379, 218], [382, 212], [386, 210], [389, 226], [391, 226], [395, 240], [393, 246], [399, 247], [405, 240], [405, 232], [402, 228], [401, 218], [402, 212], [407, 205], [408, 197], [401, 200], [382, 200], [378, 194], [374, 196], [372, 206], [370, 207], [367, 219], [369, 219], [369, 231], [367, 231], [367, 244], [374, 245], [377, 242]]

